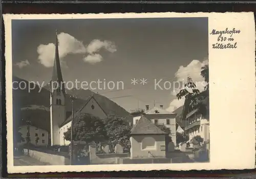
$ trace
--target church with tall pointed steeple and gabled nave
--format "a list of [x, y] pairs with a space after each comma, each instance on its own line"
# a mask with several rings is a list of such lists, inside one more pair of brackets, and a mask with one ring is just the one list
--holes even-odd
[[[53, 66], [52, 80], [50, 82], [50, 118], [51, 118], [51, 145], [69, 145], [70, 141], [63, 138], [64, 132], [71, 127], [72, 116], [66, 111], [67, 100], [71, 100], [66, 94], [65, 83], [62, 78], [59, 52], [58, 38], [56, 31], [55, 59]], [[80, 113], [91, 114], [100, 119], [106, 118], [106, 113], [97, 100], [92, 95], [86, 100], [84, 105], [74, 114], [74, 119]]]

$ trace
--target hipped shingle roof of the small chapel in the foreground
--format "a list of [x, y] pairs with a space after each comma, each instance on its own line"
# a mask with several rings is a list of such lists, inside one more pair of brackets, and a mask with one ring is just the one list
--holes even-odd
[[162, 131], [154, 123], [148, 120], [145, 116], [141, 116], [137, 124], [131, 129], [131, 135], [142, 135], [142, 134], [156, 134], [165, 135], [166, 132]]

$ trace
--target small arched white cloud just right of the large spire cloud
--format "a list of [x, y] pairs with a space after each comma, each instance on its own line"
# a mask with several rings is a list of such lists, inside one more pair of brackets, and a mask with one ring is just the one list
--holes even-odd
[[111, 41], [100, 41], [99, 39], [95, 39], [91, 41], [91, 43], [87, 46], [87, 52], [92, 54], [95, 52], [99, 52], [101, 49], [105, 49], [108, 52], [114, 53], [116, 52], [116, 46]]

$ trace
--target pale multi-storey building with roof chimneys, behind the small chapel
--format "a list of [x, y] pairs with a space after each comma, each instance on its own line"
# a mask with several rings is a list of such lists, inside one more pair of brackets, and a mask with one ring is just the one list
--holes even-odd
[[[133, 113], [133, 124], [135, 125], [140, 117], [141, 113]], [[163, 109], [163, 105], [160, 107], [154, 106], [149, 108], [149, 105], [146, 105], [146, 110], [143, 115], [151, 120], [155, 125], [165, 125], [170, 129], [170, 137], [172, 137], [173, 143], [176, 145], [176, 114], [170, 111]]]

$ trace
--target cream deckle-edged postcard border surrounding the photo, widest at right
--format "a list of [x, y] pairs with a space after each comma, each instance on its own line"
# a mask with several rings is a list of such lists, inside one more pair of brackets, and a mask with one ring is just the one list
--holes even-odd
[[[11, 19], [208, 17], [212, 29], [239, 29], [237, 49], [212, 49], [209, 35], [210, 162], [84, 166], [13, 166]], [[213, 170], [255, 167], [255, 26], [253, 13], [5, 14], [8, 172]], [[191, 59], [192, 60], [192, 59]]]

